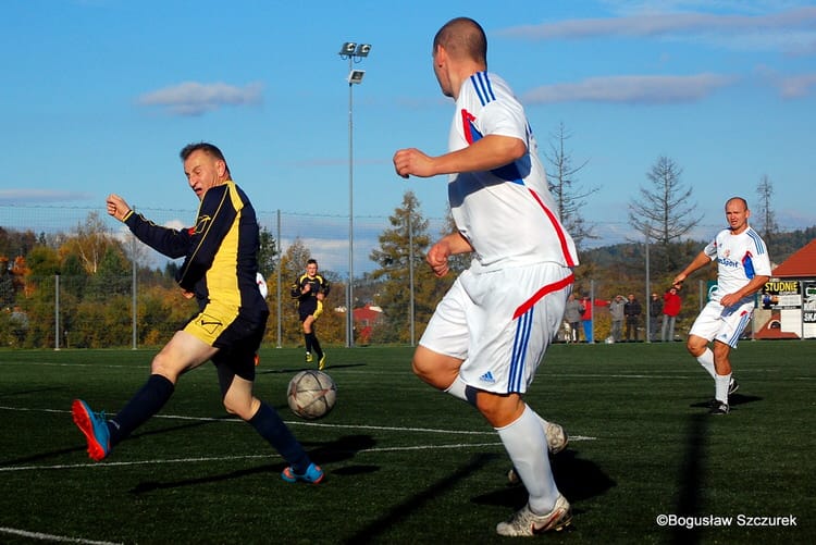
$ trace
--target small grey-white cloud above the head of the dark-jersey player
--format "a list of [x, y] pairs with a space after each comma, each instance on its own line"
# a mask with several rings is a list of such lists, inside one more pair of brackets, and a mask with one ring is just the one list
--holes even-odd
[[257, 106], [262, 102], [260, 83], [236, 87], [224, 83], [201, 84], [184, 82], [141, 95], [137, 103], [147, 107], [165, 107], [175, 115], [201, 115], [224, 106]]

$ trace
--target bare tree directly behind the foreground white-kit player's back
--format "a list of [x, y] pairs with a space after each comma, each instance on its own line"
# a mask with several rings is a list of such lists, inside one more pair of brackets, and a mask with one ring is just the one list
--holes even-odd
[[572, 137], [564, 123], [559, 123], [555, 133], [551, 135], [549, 153], [544, 153], [552, 169], [547, 170], [547, 185], [558, 205], [558, 218], [580, 248], [583, 240], [597, 238], [592, 233], [592, 225], [588, 224], [581, 209], [586, 205], [586, 198], [598, 190], [597, 187], [582, 187], [576, 174], [586, 166], [589, 160], [574, 165], [572, 154], [566, 149], [566, 141]]

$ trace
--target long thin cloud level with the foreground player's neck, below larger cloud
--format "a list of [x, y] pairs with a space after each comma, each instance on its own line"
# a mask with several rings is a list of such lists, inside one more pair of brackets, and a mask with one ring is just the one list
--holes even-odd
[[718, 74], [591, 77], [579, 83], [537, 87], [526, 92], [522, 100], [528, 103], [583, 101], [660, 104], [696, 102], [733, 82], [733, 77]]

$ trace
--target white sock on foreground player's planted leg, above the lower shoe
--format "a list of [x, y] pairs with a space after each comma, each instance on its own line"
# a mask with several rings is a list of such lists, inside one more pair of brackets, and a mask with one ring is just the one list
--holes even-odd
[[536, 515], [552, 511], [558, 499], [558, 487], [549, 468], [547, 437], [539, 416], [526, 407], [515, 422], [496, 431], [527, 487], [530, 509]]

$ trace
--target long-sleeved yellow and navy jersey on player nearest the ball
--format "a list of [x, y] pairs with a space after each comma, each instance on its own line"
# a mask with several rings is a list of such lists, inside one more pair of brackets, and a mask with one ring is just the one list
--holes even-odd
[[125, 224], [143, 243], [170, 257], [184, 258], [176, 273], [182, 288], [208, 304], [259, 318], [269, 312], [256, 275], [260, 236], [255, 209], [232, 181], [207, 190], [196, 225], [173, 230], [129, 213]]

